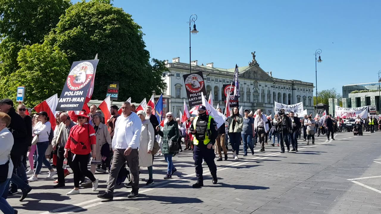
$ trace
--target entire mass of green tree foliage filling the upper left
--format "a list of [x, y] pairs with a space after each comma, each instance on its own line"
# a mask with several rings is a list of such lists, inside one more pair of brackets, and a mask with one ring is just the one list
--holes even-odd
[[0, 97], [15, 97], [20, 85], [33, 105], [60, 94], [70, 65], [96, 54], [93, 99], [104, 99], [112, 81], [120, 83], [120, 101], [162, 92], [168, 69], [157, 59], [151, 66], [141, 26], [110, 0], [17, 2], [0, 0]]

